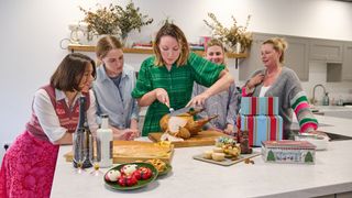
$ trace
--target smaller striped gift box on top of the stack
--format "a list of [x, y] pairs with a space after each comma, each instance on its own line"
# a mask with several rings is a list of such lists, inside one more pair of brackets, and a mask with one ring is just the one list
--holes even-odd
[[277, 97], [242, 97], [241, 114], [245, 114], [245, 116], [278, 114], [278, 98]]

